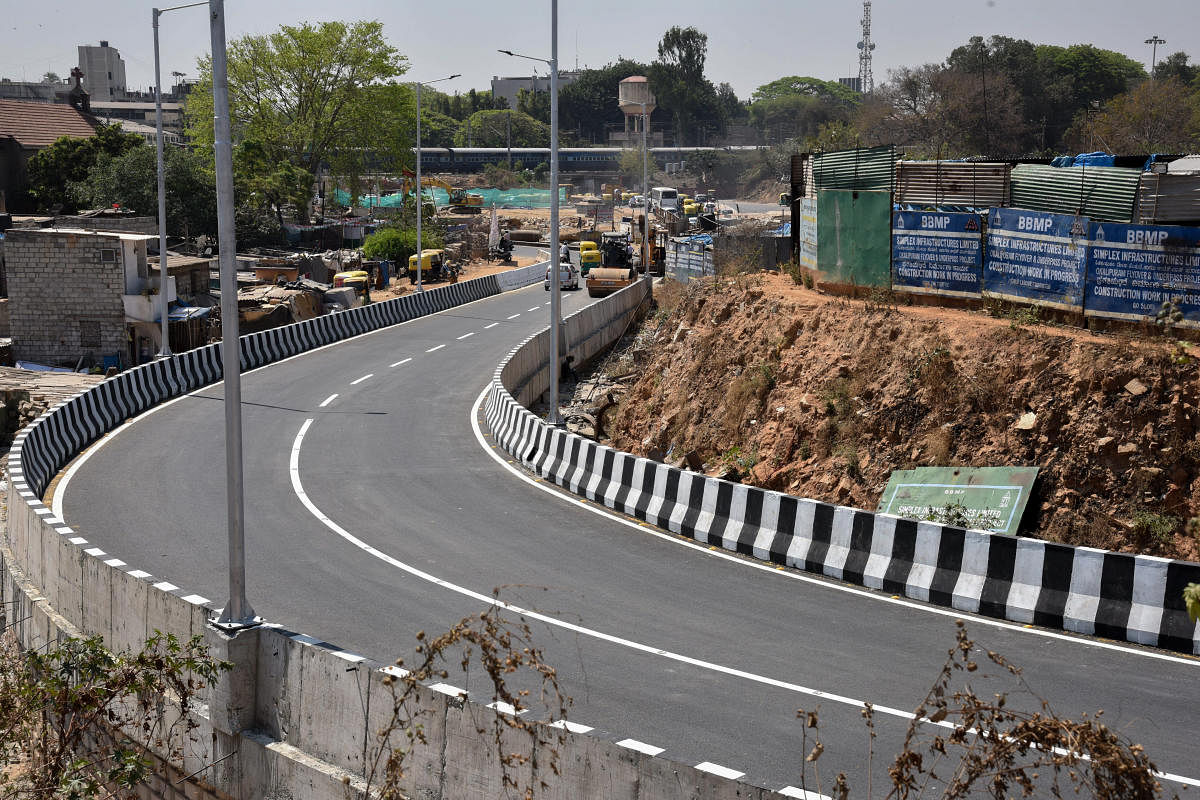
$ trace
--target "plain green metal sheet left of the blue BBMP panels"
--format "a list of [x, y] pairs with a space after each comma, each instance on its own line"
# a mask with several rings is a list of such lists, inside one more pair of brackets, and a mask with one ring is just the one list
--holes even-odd
[[892, 192], [817, 191], [817, 259], [829, 283], [892, 283]]

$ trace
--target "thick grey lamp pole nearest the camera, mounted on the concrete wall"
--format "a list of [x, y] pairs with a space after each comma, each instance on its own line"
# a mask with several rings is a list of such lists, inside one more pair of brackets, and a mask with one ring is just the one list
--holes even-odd
[[212, 150], [217, 173], [217, 242], [221, 247], [221, 366], [226, 410], [226, 512], [229, 535], [229, 600], [220, 622], [257, 624], [246, 600], [246, 513], [241, 473], [241, 362], [238, 347], [238, 236], [234, 229], [233, 138], [226, 66], [224, 0], [209, 0], [212, 38]]

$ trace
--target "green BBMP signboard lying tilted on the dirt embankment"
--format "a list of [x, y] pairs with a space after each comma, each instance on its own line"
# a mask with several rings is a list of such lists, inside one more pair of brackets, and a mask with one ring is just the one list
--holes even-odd
[[1037, 467], [922, 467], [888, 479], [880, 511], [911, 519], [1016, 534]]

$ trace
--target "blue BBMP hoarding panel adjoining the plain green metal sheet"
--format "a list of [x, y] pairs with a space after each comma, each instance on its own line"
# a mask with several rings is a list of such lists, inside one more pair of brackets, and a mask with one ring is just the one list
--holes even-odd
[[905, 291], [978, 297], [983, 269], [979, 216], [892, 213], [892, 285]]

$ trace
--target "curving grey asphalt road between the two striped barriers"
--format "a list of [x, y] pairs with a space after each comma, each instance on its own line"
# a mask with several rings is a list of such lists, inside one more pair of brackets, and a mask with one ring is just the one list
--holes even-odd
[[[539, 643], [574, 699], [569, 717], [594, 735], [781, 788], [800, 781], [796, 711], [820, 708], [826, 788], [838, 771], [854, 796], [868, 771], [882, 786], [904, 712], [929, 688], [961, 615], [656, 535], [514, 475], [476, 439], [475, 403], [499, 359], [546, 324], [547, 302], [535, 285], [244, 377], [256, 612], [390, 661], [412, 652], [418, 631], [445, 630], [500, 588], [539, 612]], [[584, 291], [564, 293], [564, 313], [586, 302]], [[66, 521], [89, 542], [217, 604], [221, 396], [210, 387], [144, 416], [61, 489]], [[1060, 714], [1104, 709], [1160, 770], [1200, 778], [1200, 661], [968, 626]], [[997, 672], [984, 667], [972, 682], [984, 696], [1013, 688], [989, 682]], [[451, 672], [446, 682], [484, 692], [480, 678]], [[863, 700], [877, 706], [870, 770]], [[1010, 702], [1036, 703], [1022, 692]]]

